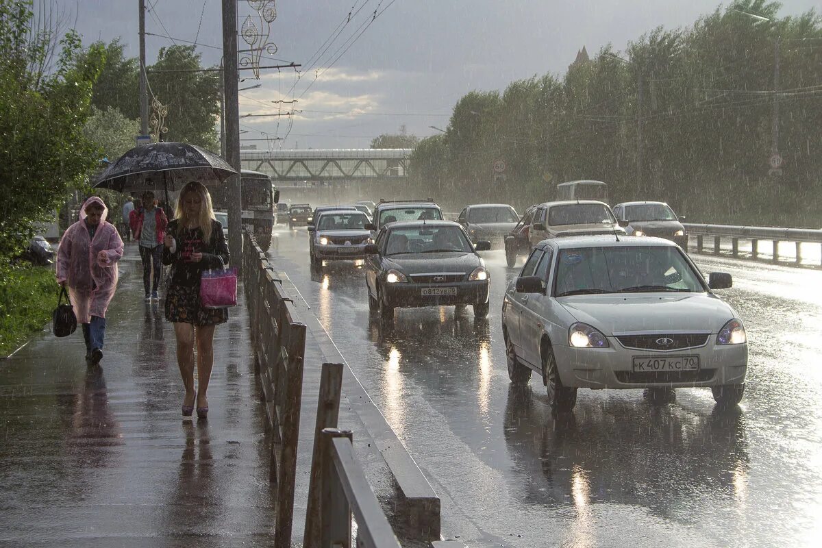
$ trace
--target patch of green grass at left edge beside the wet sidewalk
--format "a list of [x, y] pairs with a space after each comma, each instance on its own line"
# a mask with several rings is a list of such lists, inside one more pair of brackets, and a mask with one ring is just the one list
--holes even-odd
[[0, 357], [7, 357], [43, 329], [57, 306], [52, 269], [0, 265]]

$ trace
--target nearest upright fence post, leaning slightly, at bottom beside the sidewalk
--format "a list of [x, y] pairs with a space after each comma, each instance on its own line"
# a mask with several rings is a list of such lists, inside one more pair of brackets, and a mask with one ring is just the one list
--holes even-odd
[[308, 509], [306, 528], [302, 546], [320, 546], [322, 524], [322, 431], [336, 428], [339, 419], [339, 398], [343, 385], [343, 364], [324, 363], [320, 376], [320, 397], [316, 403], [316, 427], [314, 428], [314, 451], [311, 461], [311, 479], [308, 484]]

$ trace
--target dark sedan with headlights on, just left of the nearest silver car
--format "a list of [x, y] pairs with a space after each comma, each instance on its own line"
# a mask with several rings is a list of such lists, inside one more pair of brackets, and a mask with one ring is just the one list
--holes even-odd
[[397, 307], [472, 305], [488, 315], [488, 271], [468, 234], [452, 221], [386, 224], [366, 246], [368, 305], [391, 320]]

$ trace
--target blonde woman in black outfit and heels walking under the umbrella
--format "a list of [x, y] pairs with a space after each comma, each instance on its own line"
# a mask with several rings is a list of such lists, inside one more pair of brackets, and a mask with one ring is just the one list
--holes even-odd
[[[214, 329], [229, 318], [224, 308], [204, 308], [200, 302], [203, 270], [229, 265], [229, 246], [223, 226], [215, 219], [209, 191], [196, 181], [182, 187], [174, 220], [169, 223], [163, 249], [164, 265], [172, 265], [165, 295], [165, 319], [173, 322], [177, 363], [186, 395], [182, 415], [208, 416], [208, 390], [214, 366]], [[197, 345], [197, 389], [194, 390], [194, 343]]]

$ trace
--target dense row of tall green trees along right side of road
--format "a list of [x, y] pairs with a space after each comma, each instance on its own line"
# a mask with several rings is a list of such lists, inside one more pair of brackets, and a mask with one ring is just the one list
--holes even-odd
[[[444, 139], [414, 152], [413, 186], [449, 207], [471, 196], [522, 209], [593, 178], [614, 203], [666, 200], [695, 222], [822, 226], [822, 20], [780, 18], [765, 0], [734, 7], [652, 30], [622, 60], [607, 46], [561, 78], [466, 94]], [[782, 177], [768, 165], [777, 44]]]

